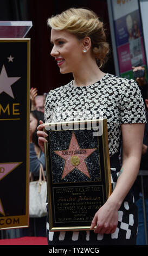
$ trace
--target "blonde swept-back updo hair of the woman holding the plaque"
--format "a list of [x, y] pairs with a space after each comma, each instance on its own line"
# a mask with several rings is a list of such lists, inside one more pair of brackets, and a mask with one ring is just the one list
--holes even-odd
[[70, 8], [49, 18], [47, 24], [57, 31], [65, 30], [73, 33], [78, 39], [89, 36], [92, 52], [99, 68], [107, 62], [109, 45], [106, 42], [104, 25], [92, 10]]

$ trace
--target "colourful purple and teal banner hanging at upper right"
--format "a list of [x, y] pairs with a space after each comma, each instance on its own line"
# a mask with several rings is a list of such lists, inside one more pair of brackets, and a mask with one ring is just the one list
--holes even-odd
[[145, 66], [143, 29], [138, 0], [112, 0], [120, 76], [133, 78], [132, 66]]

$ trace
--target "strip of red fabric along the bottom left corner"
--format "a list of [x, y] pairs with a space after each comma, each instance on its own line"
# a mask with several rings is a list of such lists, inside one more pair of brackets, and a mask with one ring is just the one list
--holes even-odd
[[0, 245], [48, 245], [47, 237], [25, 236], [15, 239], [0, 239]]

